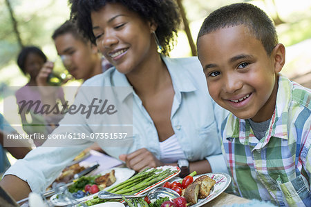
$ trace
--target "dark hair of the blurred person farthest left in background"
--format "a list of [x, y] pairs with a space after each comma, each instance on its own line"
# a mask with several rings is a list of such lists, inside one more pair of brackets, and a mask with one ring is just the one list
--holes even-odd
[[37, 54], [44, 60], [44, 62], [47, 61], [46, 55], [44, 54], [44, 52], [42, 52], [42, 50], [40, 50], [40, 48], [36, 46], [23, 47], [17, 57], [17, 66], [19, 66], [21, 72], [23, 72], [23, 74], [25, 75], [26, 75], [25, 63], [29, 54]]

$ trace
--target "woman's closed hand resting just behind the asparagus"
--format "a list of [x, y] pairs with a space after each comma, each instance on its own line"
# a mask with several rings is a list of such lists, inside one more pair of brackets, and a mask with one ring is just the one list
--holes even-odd
[[132, 152], [129, 155], [120, 155], [119, 159], [125, 161], [126, 166], [137, 172], [144, 170], [144, 168], [156, 168], [163, 166], [162, 162], [158, 160], [149, 150], [141, 148]]

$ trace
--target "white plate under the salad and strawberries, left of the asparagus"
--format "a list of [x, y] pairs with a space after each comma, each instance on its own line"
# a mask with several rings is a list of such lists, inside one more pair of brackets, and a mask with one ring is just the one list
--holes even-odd
[[[135, 173], [134, 170], [131, 170], [129, 168], [111, 168], [111, 169], [108, 169], [108, 170], [104, 170], [102, 171], [100, 174], [101, 175], [105, 175], [106, 173], [110, 172], [111, 170], [115, 170], [115, 178], [117, 179], [115, 181], [114, 184], [112, 184], [111, 186], [107, 187], [107, 188], [104, 188], [106, 190], [108, 190], [109, 188], [112, 188], [113, 186], [117, 185], [117, 184], [120, 184], [122, 181], [125, 181], [126, 179], [129, 179], [130, 177], [132, 177]], [[88, 195], [86, 197], [82, 197], [80, 199], [75, 199], [76, 201], [76, 204], [77, 202], [82, 202], [82, 201], [86, 201], [88, 199], [93, 199], [93, 197], [95, 195], [97, 195], [98, 193], [94, 193], [92, 195]], [[53, 195], [52, 197], [50, 197], [50, 201], [52, 202], [52, 204], [54, 206], [67, 206], [69, 204], [72, 204], [72, 202], [66, 198], [66, 199], [63, 199], [63, 200], [60, 200], [60, 199], [57, 199], [57, 194], [56, 195]]]

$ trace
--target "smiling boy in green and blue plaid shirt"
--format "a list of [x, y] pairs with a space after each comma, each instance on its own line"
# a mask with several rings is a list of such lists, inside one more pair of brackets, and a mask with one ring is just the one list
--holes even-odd
[[232, 112], [223, 153], [234, 190], [278, 206], [311, 206], [311, 93], [279, 75], [285, 48], [274, 24], [249, 3], [225, 6], [198, 34], [211, 97]]

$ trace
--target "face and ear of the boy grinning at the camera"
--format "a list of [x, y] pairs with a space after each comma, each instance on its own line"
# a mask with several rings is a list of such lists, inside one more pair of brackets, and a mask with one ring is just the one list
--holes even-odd
[[280, 45], [269, 57], [261, 41], [243, 25], [200, 37], [199, 59], [214, 101], [240, 119], [270, 119], [276, 101], [276, 73], [282, 68]]

